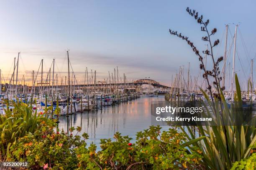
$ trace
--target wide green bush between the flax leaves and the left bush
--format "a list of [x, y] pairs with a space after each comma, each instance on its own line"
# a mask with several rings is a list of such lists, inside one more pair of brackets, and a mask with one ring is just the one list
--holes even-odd
[[77, 149], [78, 169], [136, 169], [136, 170], [172, 170], [203, 169], [202, 151], [188, 153], [182, 147], [184, 135], [169, 129], [160, 133], [161, 128], [151, 126], [144, 132], [138, 132], [136, 143], [129, 143], [131, 138], [115, 133], [115, 141], [101, 140], [101, 149], [96, 153], [96, 146]]

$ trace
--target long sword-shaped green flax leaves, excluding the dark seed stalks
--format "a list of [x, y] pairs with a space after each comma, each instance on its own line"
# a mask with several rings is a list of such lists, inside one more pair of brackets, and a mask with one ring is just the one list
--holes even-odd
[[[202, 92], [204, 91], [202, 90]], [[189, 148], [193, 150], [191, 146], [199, 147], [203, 151], [203, 164], [212, 170], [230, 169], [236, 161], [248, 158], [251, 154], [251, 148], [256, 143], [255, 126], [235, 125], [235, 121], [239, 121], [239, 117], [234, 115], [241, 116], [243, 114], [241, 89], [237, 75], [235, 102], [231, 103], [231, 109], [228, 108], [222, 91], [220, 92], [222, 102], [219, 102], [215, 98], [214, 104], [212, 104], [212, 101], [204, 92], [208, 101], [209, 110], [216, 110], [214, 112], [215, 121], [218, 125], [221, 124], [220, 126], [197, 126], [195, 128], [197, 134], [207, 136], [207, 138], [196, 141], [195, 139], [201, 137], [193, 133], [192, 127], [180, 127], [186, 135], [187, 141], [193, 140]], [[234, 114], [235, 111], [236, 114]], [[211, 116], [209, 111], [207, 112], [207, 116]], [[230, 125], [223, 125], [223, 120], [228, 120]]]

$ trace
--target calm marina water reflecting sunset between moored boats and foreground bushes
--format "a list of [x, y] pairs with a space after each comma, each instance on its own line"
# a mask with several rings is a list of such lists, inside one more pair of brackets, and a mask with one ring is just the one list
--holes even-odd
[[164, 100], [164, 96], [141, 97], [128, 101], [128, 103], [102, 107], [102, 110], [97, 112], [84, 111], [69, 117], [61, 116], [59, 129], [67, 132], [70, 126], [82, 127], [82, 132], [79, 135], [87, 133], [89, 135], [87, 144], [93, 142], [97, 145], [97, 149], [100, 149], [100, 139], [113, 139], [113, 135], [117, 131], [122, 135], [129, 135], [133, 138], [133, 142], [138, 131], [147, 129], [151, 125], [151, 101], [157, 100]]

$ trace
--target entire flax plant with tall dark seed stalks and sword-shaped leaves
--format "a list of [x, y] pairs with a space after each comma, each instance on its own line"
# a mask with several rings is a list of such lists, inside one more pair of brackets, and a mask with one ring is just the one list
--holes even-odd
[[[177, 31], [169, 30], [169, 32], [171, 35], [175, 35], [182, 40], [185, 40], [195, 52], [195, 55], [199, 57], [200, 69], [204, 71], [203, 78], [207, 82], [207, 90], [204, 91], [201, 89], [207, 100], [207, 112], [205, 114], [207, 114], [208, 117], [214, 117], [215, 123], [218, 126], [180, 127], [187, 138], [187, 142], [184, 143], [184, 145], [191, 150], [193, 150], [192, 147], [202, 149], [202, 154], [204, 156], [202, 163], [205, 164], [207, 169], [229, 170], [232, 168], [233, 163], [248, 158], [253, 152], [252, 147], [256, 143], [256, 127], [253, 122], [246, 126], [239, 124], [240, 118], [244, 117], [244, 112], [241, 89], [237, 75], [235, 78], [235, 101], [230, 104], [229, 108], [229, 104], [225, 100], [223, 94], [225, 86], [220, 87], [222, 77], [219, 69], [219, 64], [223, 61], [223, 57], [218, 57], [216, 60], [213, 52], [214, 47], [217, 46], [220, 41], [218, 39], [214, 42], [211, 41], [212, 35], [217, 32], [217, 29], [213, 28], [212, 31], [209, 31], [209, 28], [207, 27], [210, 23], [209, 20], [203, 21], [203, 16], [199, 15], [195, 10], [189, 9], [189, 7], [187, 7], [187, 12], [201, 25], [201, 31], [206, 33], [206, 36], [203, 36], [202, 40], [208, 43], [210, 50], [202, 51], [202, 53], [209, 55], [212, 59], [212, 68], [206, 70], [200, 51], [188, 37], [182, 35], [182, 33], [177, 33]], [[216, 93], [212, 92], [212, 85], [210, 84], [211, 78]], [[249, 112], [251, 113], [248, 115], [251, 115], [252, 107]], [[213, 115], [211, 115], [212, 113]], [[255, 120], [252, 121], [255, 123]], [[197, 130], [197, 133], [195, 133], [195, 129]]]

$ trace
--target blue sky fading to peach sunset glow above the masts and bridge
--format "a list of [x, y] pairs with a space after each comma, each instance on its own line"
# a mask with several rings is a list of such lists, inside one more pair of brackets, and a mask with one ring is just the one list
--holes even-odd
[[255, 0], [1, 0], [0, 69], [6, 81], [10, 80], [14, 57], [20, 52], [18, 81], [24, 75], [29, 83], [41, 59], [44, 79], [53, 59], [55, 73], [67, 76], [69, 50], [80, 83], [86, 67], [89, 72], [96, 70], [97, 80], [107, 79], [108, 71], [114, 74], [118, 66], [119, 75], [125, 73], [129, 81], [150, 77], [171, 84], [180, 66], [187, 76], [190, 63], [190, 74], [197, 77], [198, 58], [185, 41], [169, 34], [169, 29], [182, 32], [200, 51], [205, 50], [201, 40], [205, 34], [186, 12], [190, 7], [210, 20], [209, 29], [217, 28], [212, 36], [221, 42], [214, 49], [216, 58], [224, 54], [225, 24], [229, 24], [227, 65], [230, 62], [231, 68], [230, 45], [235, 24], [239, 24], [235, 71], [245, 81], [251, 59], [256, 59], [255, 6]]

